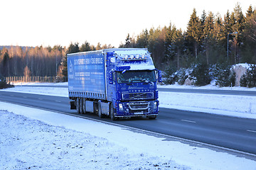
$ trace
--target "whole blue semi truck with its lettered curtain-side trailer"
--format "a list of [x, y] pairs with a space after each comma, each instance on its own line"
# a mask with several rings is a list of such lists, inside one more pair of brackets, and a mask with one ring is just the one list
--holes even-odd
[[146, 48], [112, 48], [68, 54], [70, 108], [112, 120], [159, 113], [154, 67]]

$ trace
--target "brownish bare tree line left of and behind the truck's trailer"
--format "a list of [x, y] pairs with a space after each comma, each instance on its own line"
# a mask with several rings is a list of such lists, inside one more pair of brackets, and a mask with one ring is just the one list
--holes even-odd
[[3, 47], [0, 50], [0, 75], [3, 77], [67, 77], [66, 56], [68, 53], [112, 47], [112, 45], [100, 45], [100, 42], [95, 47], [87, 41], [80, 47], [78, 42], [70, 42], [68, 48], [60, 45]]

